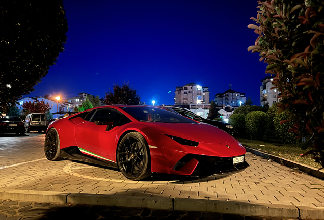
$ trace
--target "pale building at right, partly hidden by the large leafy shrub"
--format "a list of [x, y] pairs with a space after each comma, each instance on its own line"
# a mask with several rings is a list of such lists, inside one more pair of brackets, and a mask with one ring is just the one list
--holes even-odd
[[267, 76], [261, 80], [262, 85], [260, 86], [260, 103], [261, 106], [265, 105], [266, 103], [269, 104], [271, 107], [274, 103], [280, 101], [278, 100], [278, 89], [272, 85], [272, 81], [274, 80], [275, 76]]

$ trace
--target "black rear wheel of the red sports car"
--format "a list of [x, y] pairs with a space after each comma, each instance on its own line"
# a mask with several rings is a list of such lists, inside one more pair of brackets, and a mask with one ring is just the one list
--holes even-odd
[[45, 137], [44, 143], [45, 156], [50, 161], [60, 160], [60, 137], [55, 128], [51, 128]]

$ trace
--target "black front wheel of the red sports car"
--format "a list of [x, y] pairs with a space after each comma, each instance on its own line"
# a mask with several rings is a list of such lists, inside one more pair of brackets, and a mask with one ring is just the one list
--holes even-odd
[[122, 174], [130, 180], [142, 180], [151, 175], [148, 144], [138, 132], [126, 134], [117, 149], [117, 164]]

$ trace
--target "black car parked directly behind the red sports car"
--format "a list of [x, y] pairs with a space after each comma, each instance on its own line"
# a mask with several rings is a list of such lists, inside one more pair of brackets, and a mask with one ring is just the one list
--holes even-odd
[[164, 108], [164, 109], [167, 109], [169, 111], [179, 113], [180, 115], [182, 115], [184, 117], [191, 118], [191, 119], [193, 119], [195, 121], [198, 121], [198, 122], [203, 122], [203, 123], [206, 123], [206, 124], [216, 126], [219, 129], [229, 133], [232, 136], [235, 135], [235, 129], [229, 123], [205, 119], [205, 118], [203, 118], [201, 116], [196, 115], [192, 111], [189, 111], [189, 110], [183, 109], [183, 108], [179, 108], [179, 107], [165, 107], [165, 106], [163, 106], [163, 107], [162, 106], [157, 106], [157, 107]]

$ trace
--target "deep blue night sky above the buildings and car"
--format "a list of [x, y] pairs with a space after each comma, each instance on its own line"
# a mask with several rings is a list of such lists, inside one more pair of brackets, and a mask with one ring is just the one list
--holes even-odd
[[[70, 98], [85, 92], [102, 98], [128, 82], [141, 101], [174, 104], [176, 86], [208, 86], [210, 101], [232, 89], [260, 105], [266, 65], [247, 51], [257, 34], [257, 1], [63, 2], [69, 31], [57, 65], [30, 95]], [[171, 91], [171, 92], [169, 92]]]

